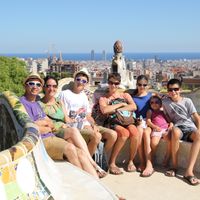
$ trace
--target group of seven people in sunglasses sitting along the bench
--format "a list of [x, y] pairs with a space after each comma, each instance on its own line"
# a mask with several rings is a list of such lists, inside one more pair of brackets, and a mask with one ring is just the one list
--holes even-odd
[[[119, 90], [120, 74], [110, 73], [108, 89], [95, 99], [92, 108], [84, 92], [89, 79], [87, 70], [81, 69], [74, 74], [73, 86], [58, 95], [58, 81], [52, 76], [43, 80], [32, 73], [24, 80], [25, 93], [20, 101], [38, 125], [52, 159], [67, 160], [94, 177], [102, 178], [107, 172], [92, 158], [102, 140], [109, 158], [109, 172], [119, 175], [123, 171], [116, 164], [117, 157], [129, 139], [127, 171], [137, 170], [142, 177], [149, 177], [154, 172], [156, 148], [163, 138], [167, 141], [164, 164], [167, 166], [172, 159], [172, 168], [165, 175], [176, 176], [179, 140], [183, 139], [192, 142], [184, 179], [191, 185], [200, 183], [193, 173], [200, 149], [200, 118], [192, 101], [180, 95], [180, 80], [169, 80], [168, 95], [161, 98], [148, 91], [148, 79], [144, 75], [137, 78], [136, 90], [128, 93]], [[39, 97], [42, 90], [44, 95]], [[98, 111], [93, 116], [94, 108]], [[135, 122], [118, 123], [115, 119], [119, 113], [123, 116], [131, 114]], [[140, 164], [136, 167], [137, 153]]]

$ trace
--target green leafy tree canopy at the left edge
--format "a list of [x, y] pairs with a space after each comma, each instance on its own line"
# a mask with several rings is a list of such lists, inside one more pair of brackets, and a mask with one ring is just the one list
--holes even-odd
[[0, 92], [10, 90], [21, 96], [24, 92], [23, 80], [27, 74], [24, 61], [0, 56]]

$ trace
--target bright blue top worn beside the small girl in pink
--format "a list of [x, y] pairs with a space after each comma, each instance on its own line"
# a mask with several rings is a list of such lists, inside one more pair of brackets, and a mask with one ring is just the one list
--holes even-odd
[[133, 100], [137, 105], [137, 110], [135, 111], [136, 117], [142, 116], [143, 119], [146, 118], [147, 111], [150, 109], [150, 98], [152, 96], [151, 92], [148, 92], [146, 96], [138, 97], [133, 96]]

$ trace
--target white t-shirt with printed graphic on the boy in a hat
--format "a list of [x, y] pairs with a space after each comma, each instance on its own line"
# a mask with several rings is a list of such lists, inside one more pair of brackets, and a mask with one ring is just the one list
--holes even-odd
[[77, 120], [78, 123], [73, 126], [82, 129], [85, 125], [90, 125], [86, 115], [91, 113], [91, 108], [84, 92], [76, 94], [71, 90], [64, 90], [58, 98], [64, 103], [68, 116]]

